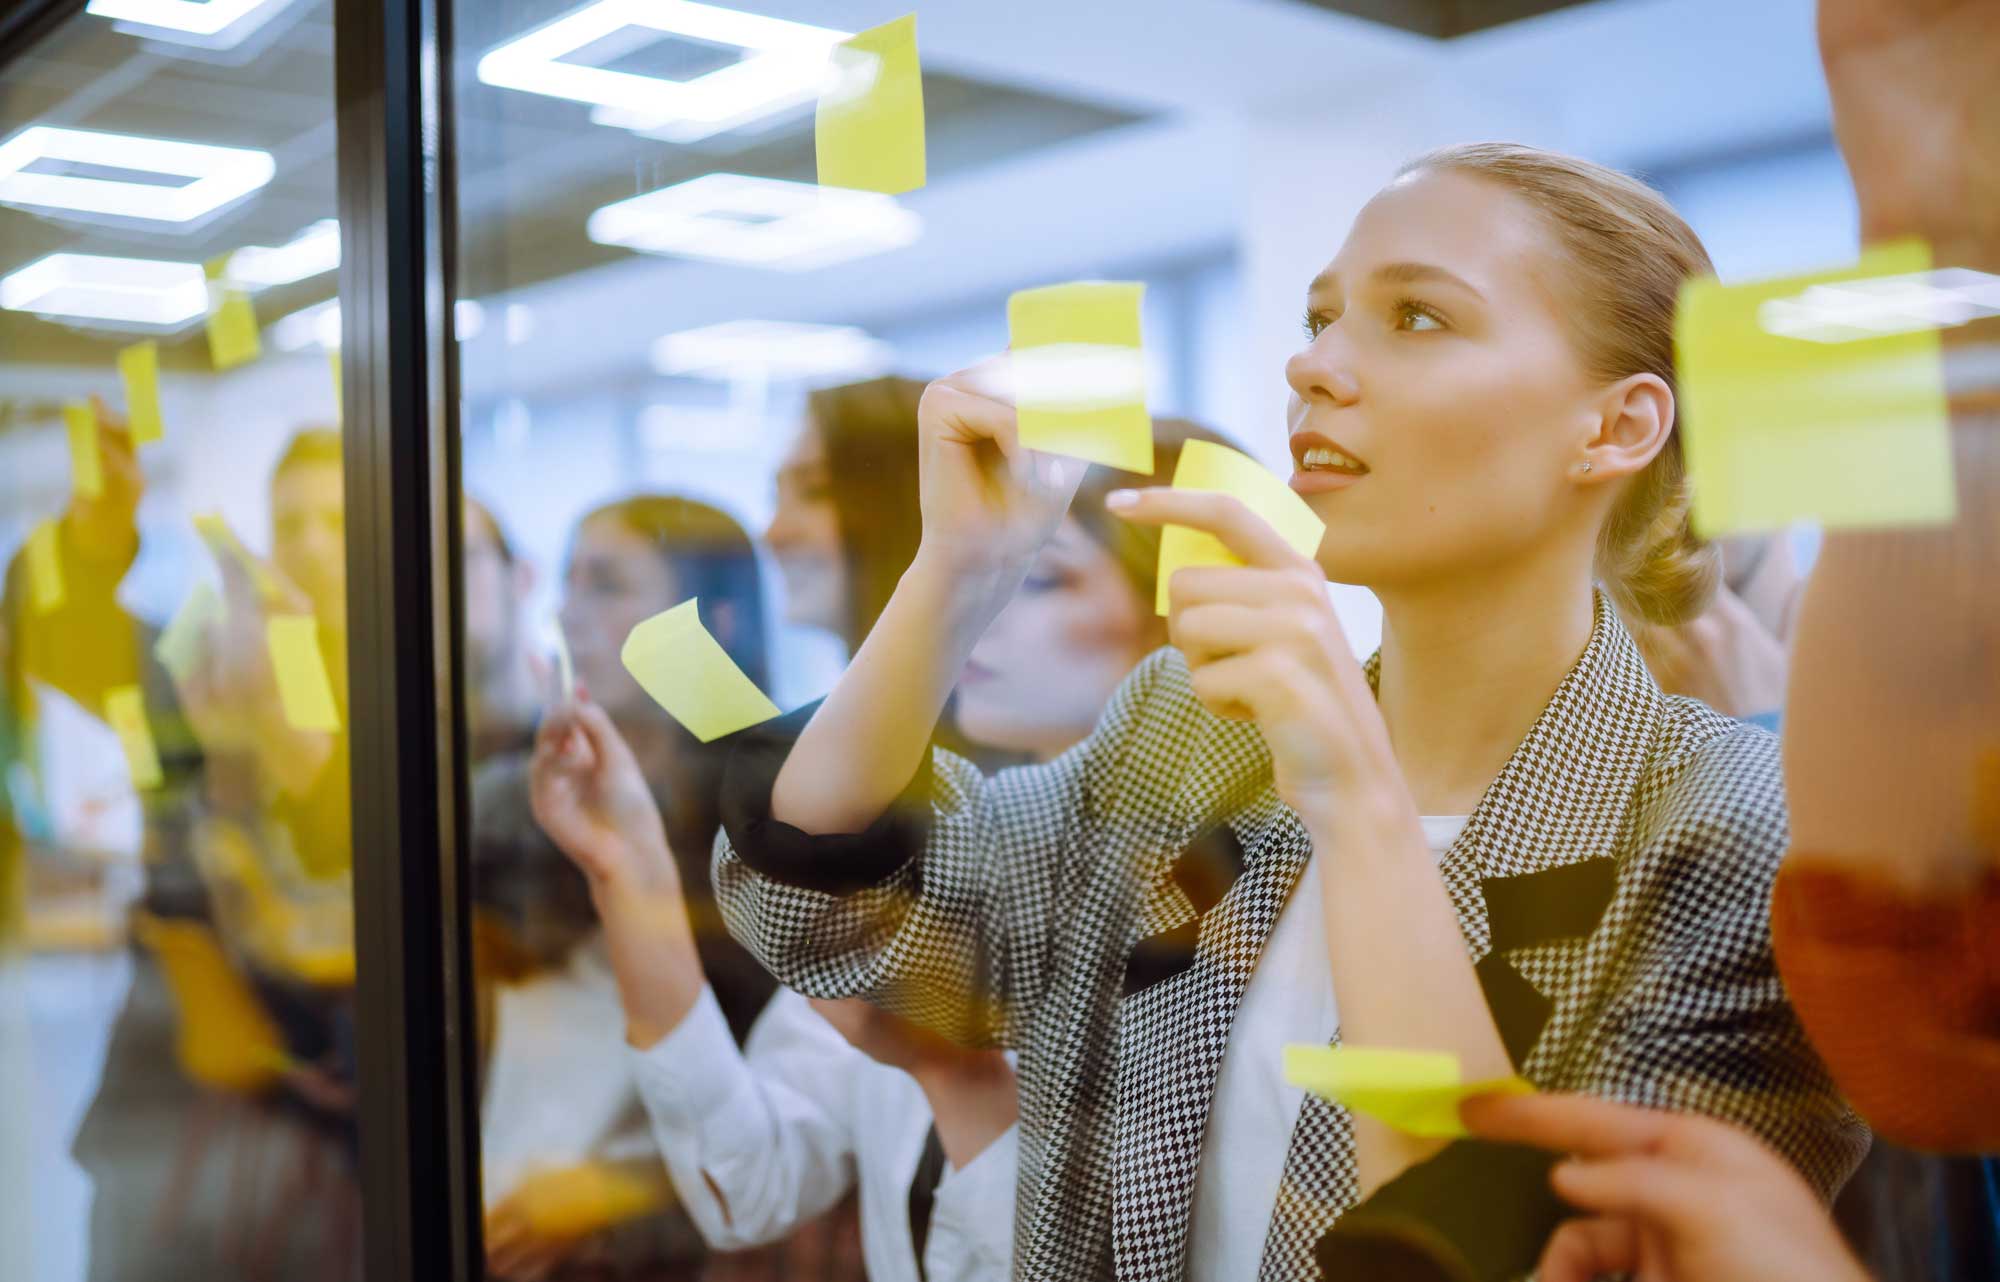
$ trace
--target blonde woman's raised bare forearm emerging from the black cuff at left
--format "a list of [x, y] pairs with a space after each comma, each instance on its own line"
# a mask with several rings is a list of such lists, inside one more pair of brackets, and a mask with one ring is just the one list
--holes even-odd
[[860, 832], [924, 764], [932, 726], [972, 644], [1012, 582], [918, 558], [840, 684], [792, 746], [772, 818], [806, 832]]

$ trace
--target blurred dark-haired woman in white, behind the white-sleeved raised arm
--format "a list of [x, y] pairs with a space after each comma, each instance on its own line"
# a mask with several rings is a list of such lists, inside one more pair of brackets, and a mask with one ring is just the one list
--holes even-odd
[[[742, 1038], [776, 984], [722, 930], [708, 894], [720, 748], [674, 722], [620, 660], [634, 626], [688, 598], [700, 598], [702, 622], [736, 666], [768, 686], [756, 550], [730, 516], [640, 494], [578, 522], [560, 606], [576, 684], [632, 746], [636, 778], [676, 842], [700, 964]], [[536, 826], [526, 752], [500, 754], [472, 778], [472, 902], [488, 1272], [508, 1282], [592, 1270], [694, 1276], [700, 1236], [668, 1206], [620, 1056], [606, 924], [584, 876]]]

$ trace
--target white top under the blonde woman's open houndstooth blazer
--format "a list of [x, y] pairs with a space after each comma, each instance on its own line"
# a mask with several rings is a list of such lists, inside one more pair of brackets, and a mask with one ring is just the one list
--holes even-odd
[[[1424, 840], [1444, 852], [1466, 826], [1464, 814], [1426, 814]], [[1278, 912], [1264, 952], [1230, 1022], [1216, 1096], [1202, 1134], [1188, 1224], [1190, 1282], [1248, 1282], [1264, 1260], [1264, 1234], [1278, 1204], [1284, 1156], [1306, 1092], [1284, 1080], [1284, 1046], [1324, 1046], [1340, 1028], [1334, 976], [1326, 968], [1326, 914], [1320, 858], [1306, 860]]]

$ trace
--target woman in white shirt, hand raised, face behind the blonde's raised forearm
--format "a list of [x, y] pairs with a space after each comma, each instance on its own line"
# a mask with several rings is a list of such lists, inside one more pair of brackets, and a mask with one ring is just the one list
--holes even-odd
[[[1154, 424], [1154, 440], [1158, 484], [1186, 440], [1220, 444], [1172, 420]], [[1128, 480], [1090, 470], [974, 648], [960, 690], [974, 742], [1060, 754], [1164, 644], [1158, 530], [1118, 522], [1102, 502]], [[588, 700], [562, 706], [534, 760], [536, 816], [590, 880], [654, 1134], [710, 1246], [774, 1242], [858, 1188], [874, 1282], [1010, 1276], [1010, 1060], [858, 998], [808, 1002], [792, 990], [738, 1050], [692, 946], [676, 858], [612, 718]]]

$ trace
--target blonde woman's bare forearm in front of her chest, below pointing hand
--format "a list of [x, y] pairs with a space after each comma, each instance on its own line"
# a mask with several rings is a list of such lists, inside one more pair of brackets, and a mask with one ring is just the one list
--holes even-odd
[[[1442, 1050], [1466, 1080], [1514, 1072], [1408, 794], [1378, 788], [1314, 828], [1344, 1046]], [[1412, 996], [1416, 1000], [1412, 1000]], [[1442, 1148], [1354, 1118], [1362, 1196]]]

